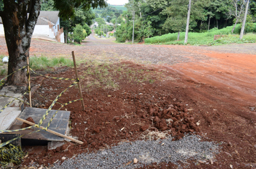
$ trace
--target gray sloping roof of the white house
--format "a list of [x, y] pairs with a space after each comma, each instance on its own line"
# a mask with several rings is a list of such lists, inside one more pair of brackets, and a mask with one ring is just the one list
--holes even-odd
[[[48, 25], [49, 22], [52, 25], [55, 25], [59, 19], [59, 11], [40, 11], [40, 14], [37, 19], [37, 25]], [[0, 24], [2, 24], [3, 21], [0, 17]]]

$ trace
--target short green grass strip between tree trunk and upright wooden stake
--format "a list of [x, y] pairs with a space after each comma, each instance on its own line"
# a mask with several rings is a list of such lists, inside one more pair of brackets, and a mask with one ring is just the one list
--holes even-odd
[[65, 59], [64, 57], [55, 57], [49, 59], [48, 57], [30, 57], [30, 65], [32, 69], [50, 69], [51, 67], [67, 66], [72, 67], [73, 61]]

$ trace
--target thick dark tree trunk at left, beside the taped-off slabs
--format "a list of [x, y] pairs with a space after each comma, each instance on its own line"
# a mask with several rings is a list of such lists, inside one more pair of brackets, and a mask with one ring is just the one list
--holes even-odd
[[[8, 74], [12, 74], [27, 65], [29, 47], [35, 24], [40, 13], [40, 0], [8, 1], [4, 0], [4, 12], [1, 19], [9, 52]], [[8, 77], [9, 84], [27, 84], [26, 69]]]

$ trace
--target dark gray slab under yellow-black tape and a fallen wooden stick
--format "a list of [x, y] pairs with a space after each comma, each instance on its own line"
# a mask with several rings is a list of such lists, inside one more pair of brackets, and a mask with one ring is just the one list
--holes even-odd
[[[49, 112], [49, 115], [46, 117], [46, 119], [42, 122], [42, 127], [46, 127], [48, 122], [50, 122], [50, 118], [57, 110], [51, 110]], [[46, 109], [39, 109], [39, 108], [32, 108], [32, 107], [26, 107], [21, 115], [19, 115], [19, 118], [22, 118], [26, 120], [28, 117], [32, 117], [32, 119], [37, 124], [40, 119], [42, 118], [42, 115], [44, 115], [46, 112]], [[69, 111], [63, 111], [60, 110], [53, 118], [49, 129], [53, 130], [55, 132], [59, 132], [63, 135], [67, 134], [67, 128], [68, 128], [68, 122], [69, 122], [70, 112]], [[19, 129], [22, 126], [22, 122], [19, 122], [18, 120], [14, 121], [14, 124], [10, 128], [10, 130]], [[37, 128], [29, 129], [29, 130], [23, 130], [20, 132], [17, 132], [21, 135], [33, 132], [38, 130]], [[22, 139], [31, 139], [31, 140], [47, 140], [47, 141], [63, 141], [63, 137], [59, 137], [57, 135], [53, 135], [50, 132], [46, 132], [44, 130], [40, 130], [40, 132], [35, 132], [30, 135], [24, 135]]]

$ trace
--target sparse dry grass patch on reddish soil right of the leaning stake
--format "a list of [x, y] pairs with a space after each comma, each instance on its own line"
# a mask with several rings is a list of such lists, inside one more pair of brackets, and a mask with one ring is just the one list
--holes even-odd
[[[160, 77], [156, 72], [129, 67], [129, 64], [108, 64], [86, 62], [86, 69], [81, 76], [82, 88], [90, 90], [92, 87], [118, 90], [120, 83], [154, 83]], [[83, 66], [83, 65], [81, 65]]]

